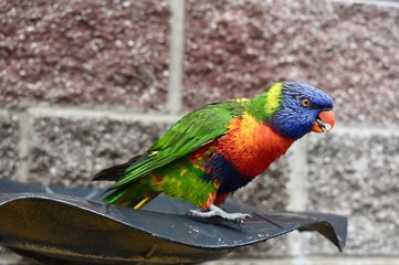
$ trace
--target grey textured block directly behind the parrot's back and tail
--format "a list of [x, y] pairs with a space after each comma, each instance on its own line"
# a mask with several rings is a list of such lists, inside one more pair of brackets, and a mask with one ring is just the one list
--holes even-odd
[[30, 181], [67, 187], [93, 184], [101, 169], [145, 151], [165, 125], [107, 118], [35, 117]]

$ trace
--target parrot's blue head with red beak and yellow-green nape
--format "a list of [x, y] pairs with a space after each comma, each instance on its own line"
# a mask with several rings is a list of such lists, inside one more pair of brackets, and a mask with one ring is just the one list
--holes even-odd
[[329, 131], [335, 124], [333, 99], [314, 86], [276, 83], [266, 98], [271, 112], [267, 124], [284, 137], [298, 139], [309, 131]]

